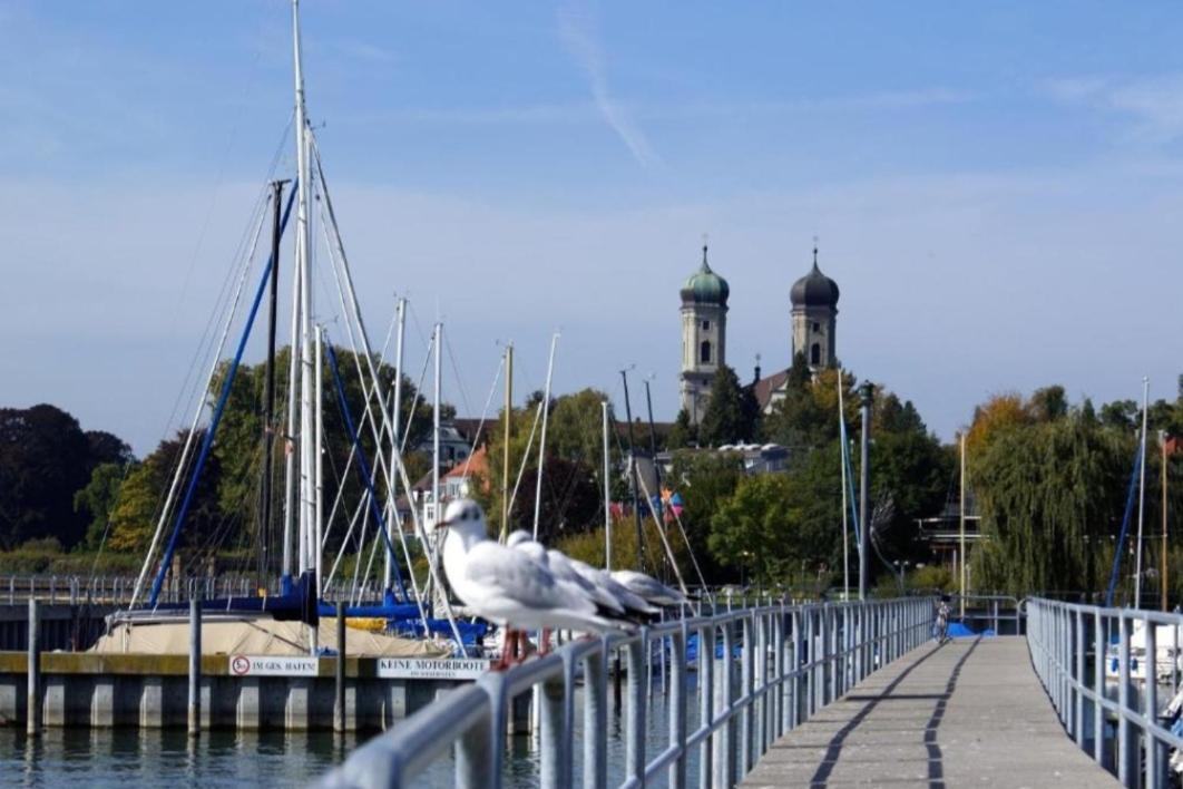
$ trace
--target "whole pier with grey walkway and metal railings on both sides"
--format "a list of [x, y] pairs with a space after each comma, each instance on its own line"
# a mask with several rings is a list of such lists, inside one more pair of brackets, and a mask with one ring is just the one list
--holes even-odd
[[[1140, 621], [1153, 654], [1151, 626], [1183, 616], [1029, 599], [1019, 635], [938, 644], [933, 603], [770, 606], [577, 640], [442, 694], [319, 785], [416, 785], [451, 758], [457, 787], [499, 789], [511, 710], [531, 697], [542, 787], [1169, 785], [1183, 741], [1155, 683], [1133, 681], [1130, 635]], [[1125, 666], [1117, 683], [1106, 662]]]

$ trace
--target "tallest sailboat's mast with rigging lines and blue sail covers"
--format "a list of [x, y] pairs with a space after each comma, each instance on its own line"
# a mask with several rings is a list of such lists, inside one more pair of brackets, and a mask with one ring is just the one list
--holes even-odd
[[[412, 590], [406, 588], [399, 573], [396, 545], [406, 565], [411, 567], [411, 551], [402, 524], [393, 504], [394, 491], [401, 483], [405, 491], [411, 491], [400, 450], [400, 429], [397, 425], [399, 388], [402, 379], [401, 338], [399, 351], [399, 369], [395, 384], [393, 413], [388, 410], [390, 402], [383, 390], [382, 379], [375, 366], [375, 354], [370, 345], [354, 289], [344, 244], [334, 213], [332, 201], [324, 177], [324, 169], [313, 131], [308, 122], [304, 92], [303, 58], [300, 52], [299, 0], [292, 0], [292, 44], [295, 75], [295, 148], [296, 173], [286, 203], [280, 211], [282, 183], [277, 182], [271, 200], [273, 209], [272, 251], [261, 271], [253, 300], [246, 310], [245, 322], [240, 330], [238, 343], [230, 363], [222, 368], [220, 363], [222, 350], [230, 337], [237, 311], [243, 304], [243, 296], [250, 273], [254, 250], [264, 225], [263, 212], [259, 214], [253, 241], [243, 264], [238, 290], [225, 316], [221, 339], [214, 351], [206, 386], [201, 392], [195, 408], [190, 429], [181, 450], [175, 476], [156, 522], [156, 528], [138, 575], [132, 602], [129, 609], [112, 616], [112, 623], [149, 623], [176, 621], [188, 615], [188, 606], [167, 603], [162, 600], [170, 576], [175, 581], [179, 575], [176, 554], [180, 538], [185, 531], [187, 517], [193, 505], [198, 481], [207, 464], [211, 450], [216, 439], [218, 428], [222, 421], [227, 401], [233, 387], [235, 374], [243, 360], [247, 341], [251, 336], [265, 295], [269, 302], [269, 356], [267, 356], [267, 394], [265, 396], [266, 425], [272, 427], [273, 392], [274, 392], [274, 335], [277, 309], [277, 270], [279, 265], [279, 242], [295, 213], [295, 265], [291, 284], [291, 363], [287, 370], [287, 409], [286, 429], [284, 433], [284, 489], [282, 517], [282, 575], [277, 588], [269, 588], [260, 578], [260, 587], [253, 595], [231, 596], [219, 600], [207, 600], [202, 603], [205, 616], [221, 620], [269, 619], [276, 621], [290, 620], [303, 622], [313, 629], [312, 648], [316, 648], [315, 629], [318, 619], [335, 612], [335, 606], [322, 600], [323, 565], [322, 554], [324, 539], [324, 429], [323, 382], [330, 377], [336, 390], [336, 400], [341, 408], [345, 428], [349, 433], [353, 452], [356, 455], [356, 468], [362, 477], [369, 509], [383, 542], [384, 589], [381, 600], [357, 601], [347, 609], [347, 616], [381, 617], [389, 623], [389, 629], [413, 633], [421, 636], [442, 634], [452, 640], [457, 652], [465, 651], [465, 644], [471, 644], [483, 634], [483, 626], [463, 626], [452, 615], [447, 600], [442, 601], [441, 619], [433, 614], [431, 603], [415, 588], [412, 576]], [[318, 215], [313, 216], [313, 206]], [[318, 229], [323, 234], [328, 250], [328, 263], [343, 313], [344, 330], [354, 351], [357, 376], [362, 383], [366, 409], [361, 421], [355, 421], [349, 410], [341, 381], [341, 370], [334, 345], [328, 341], [324, 326], [313, 322], [313, 282], [312, 277], [312, 224], [318, 219]], [[400, 303], [400, 313], [405, 304]], [[400, 329], [401, 335], [401, 329]], [[439, 362], [437, 361], [437, 367]], [[328, 370], [330, 376], [325, 376]], [[221, 376], [221, 383], [208, 420], [206, 393], [212, 393], [214, 381]], [[331, 394], [330, 394], [331, 396]], [[437, 403], [437, 431], [438, 427]], [[203, 428], [201, 427], [203, 423]], [[373, 434], [375, 463], [370, 463], [362, 448], [362, 431], [369, 428]], [[264, 439], [265, 468], [264, 486], [270, 484], [273, 459], [273, 435]], [[383, 447], [389, 445], [389, 461]], [[379, 477], [381, 474], [381, 477]], [[384, 483], [387, 502], [379, 502], [377, 486]], [[265, 524], [270, 525], [270, 493], [264, 497]], [[429, 539], [425, 524], [418, 512], [412, 512], [414, 536], [426, 550]], [[264, 533], [266, 528], [264, 529]], [[428, 556], [432, 556], [428, 550]], [[442, 588], [439, 578], [438, 563], [428, 562], [432, 583]]]

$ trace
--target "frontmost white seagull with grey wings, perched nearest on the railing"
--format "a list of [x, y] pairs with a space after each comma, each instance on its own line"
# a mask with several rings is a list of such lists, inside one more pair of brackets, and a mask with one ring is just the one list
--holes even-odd
[[485, 516], [472, 499], [448, 504], [439, 526], [447, 529], [444, 571], [457, 596], [479, 616], [506, 630], [511, 625], [539, 630], [627, 629], [627, 622], [600, 615], [592, 596], [560, 581], [542, 562], [490, 539]]

